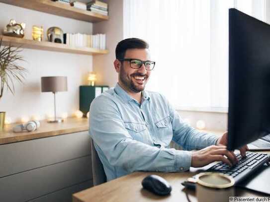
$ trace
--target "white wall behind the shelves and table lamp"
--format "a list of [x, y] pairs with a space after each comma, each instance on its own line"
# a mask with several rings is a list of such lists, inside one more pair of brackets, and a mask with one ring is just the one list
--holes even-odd
[[[92, 33], [92, 23], [89, 22], [0, 3], [0, 30], [11, 18], [18, 23], [26, 23], [26, 39], [31, 39], [34, 24], [43, 25], [45, 33], [52, 26], [62, 28], [64, 33]], [[59, 115], [68, 112], [71, 116], [79, 109], [79, 86], [86, 84], [87, 73], [92, 70], [92, 56], [32, 49], [24, 49], [22, 56], [27, 63], [19, 64], [28, 69], [26, 80], [24, 85], [15, 84], [14, 96], [4, 90], [0, 99], [0, 111], [5, 111], [12, 122], [17, 122], [21, 117], [38, 115], [44, 119], [46, 114], [53, 114], [53, 94], [41, 93], [41, 76], [68, 77], [68, 91], [56, 94]]]

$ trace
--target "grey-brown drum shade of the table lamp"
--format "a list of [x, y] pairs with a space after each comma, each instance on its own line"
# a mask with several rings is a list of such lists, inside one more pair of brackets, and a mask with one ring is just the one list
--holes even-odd
[[68, 90], [67, 76], [41, 77], [41, 92], [59, 92]]

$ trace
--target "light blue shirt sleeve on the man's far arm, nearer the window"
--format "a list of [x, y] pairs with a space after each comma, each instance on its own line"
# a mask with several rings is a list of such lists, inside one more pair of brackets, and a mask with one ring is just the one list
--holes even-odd
[[218, 137], [213, 134], [207, 134], [197, 131], [186, 124], [179, 116], [178, 112], [167, 101], [172, 118], [173, 141], [183, 147], [185, 150], [201, 149], [210, 145], [215, 145]]

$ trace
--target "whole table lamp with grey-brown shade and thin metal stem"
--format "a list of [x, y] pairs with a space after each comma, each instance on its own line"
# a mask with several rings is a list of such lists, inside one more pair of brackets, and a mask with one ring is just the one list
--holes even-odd
[[64, 119], [56, 117], [55, 94], [60, 91], [68, 91], [67, 76], [45, 76], [41, 77], [41, 92], [52, 92], [54, 94], [54, 119], [48, 123], [60, 123]]

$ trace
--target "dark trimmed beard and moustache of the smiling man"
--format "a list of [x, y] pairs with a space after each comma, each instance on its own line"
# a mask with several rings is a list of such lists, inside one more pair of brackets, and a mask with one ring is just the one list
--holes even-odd
[[[144, 83], [144, 85], [143, 85], [142, 88], [136, 87], [135, 83], [132, 80], [132, 77], [134, 78], [134, 76], [145, 76], [145, 78], [144, 78], [145, 79], [145, 83]], [[130, 79], [128, 79], [128, 75], [124, 71], [124, 67], [121, 66], [120, 67], [120, 81], [124, 84], [125, 88], [127, 90], [131, 90], [131, 91], [133, 91], [135, 93], [139, 93], [139, 92], [141, 92], [141, 91], [144, 90], [145, 84], [146, 84], [146, 80], [148, 78], [148, 76], [146, 74], [141, 74], [141, 73], [135, 72], [135, 73], [130, 74], [129, 78]]]

